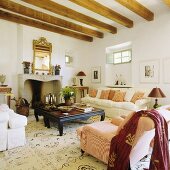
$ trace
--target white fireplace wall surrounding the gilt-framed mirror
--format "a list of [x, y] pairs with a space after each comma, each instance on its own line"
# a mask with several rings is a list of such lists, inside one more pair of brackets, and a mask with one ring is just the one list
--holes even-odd
[[[52, 43], [52, 65], [61, 65], [62, 85], [72, 85], [72, 77], [81, 69], [81, 53], [88, 42], [56, 33], [0, 20], [0, 74], [6, 75], [5, 84], [12, 87], [18, 97], [18, 74], [23, 73], [23, 61], [33, 61], [33, 40], [45, 37]], [[71, 55], [73, 63], [65, 65], [65, 54]], [[15, 103], [13, 102], [13, 105]]]

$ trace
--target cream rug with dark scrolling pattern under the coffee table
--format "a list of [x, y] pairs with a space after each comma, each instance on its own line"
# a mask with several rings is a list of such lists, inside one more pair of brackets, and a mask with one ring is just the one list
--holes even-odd
[[[26, 145], [0, 152], [0, 170], [106, 170], [103, 162], [88, 154], [81, 156], [76, 134], [78, 127], [97, 120], [99, 117], [64, 124], [64, 134], [59, 136], [55, 124], [47, 129], [42, 117], [36, 122], [33, 115], [29, 116]], [[133, 170], [143, 170], [148, 161], [143, 159]]]

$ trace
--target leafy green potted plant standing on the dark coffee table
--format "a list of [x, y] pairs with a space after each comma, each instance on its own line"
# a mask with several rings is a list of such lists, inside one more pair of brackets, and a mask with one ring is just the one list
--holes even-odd
[[65, 104], [69, 106], [71, 105], [71, 99], [75, 96], [75, 91], [73, 88], [66, 86], [61, 89], [61, 95], [65, 100]]

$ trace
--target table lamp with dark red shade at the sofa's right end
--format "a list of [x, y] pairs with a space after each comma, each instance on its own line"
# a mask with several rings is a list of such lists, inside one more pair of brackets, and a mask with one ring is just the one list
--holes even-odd
[[149, 93], [148, 97], [153, 97], [156, 98], [155, 99], [155, 104], [153, 105], [153, 108], [157, 108], [158, 107], [158, 99], [157, 98], [164, 98], [166, 97], [164, 95], [164, 93], [162, 92], [162, 90], [160, 88], [153, 88], [152, 91]]

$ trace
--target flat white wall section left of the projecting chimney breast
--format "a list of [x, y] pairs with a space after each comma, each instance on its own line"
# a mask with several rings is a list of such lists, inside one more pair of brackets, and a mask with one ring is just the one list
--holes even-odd
[[17, 24], [0, 20], [0, 74], [17, 94]]

